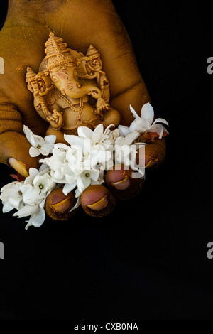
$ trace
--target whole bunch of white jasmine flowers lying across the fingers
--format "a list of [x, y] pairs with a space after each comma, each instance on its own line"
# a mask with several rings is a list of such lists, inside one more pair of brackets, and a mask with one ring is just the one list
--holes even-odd
[[42, 154], [48, 157], [40, 160], [43, 164], [39, 170], [30, 168], [29, 176], [24, 181], [9, 183], [1, 188], [3, 212], [16, 209], [13, 216], [29, 217], [26, 230], [32, 225], [40, 227], [45, 220], [45, 200], [53, 189], [61, 185], [64, 185], [65, 195], [75, 190], [77, 203], [72, 211], [80, 205], [82, 192], [89, 185], [102, 184], [105, 171], [115, 163], [123, 163], [143, 177], [142, 168], [136, 166], [136, 155], [137, 144], [146, 144], [133, 142], [141, 132], [156, 132], [159, 138], [162, 138], [167, 130], [158, 123], [168, 125], [168, 122], [165, 119], [155, 119], [153, 122], [154, 112], [150, 104], [143, 106], [141, 117], [131, 106], [130, 108], [135, 120], [129, 128], [119, 126], [119, 129], [111, 131], [113, 124], [105, 130], [103, 124], [99, 124], [92, 131], [86, 126], [79, 126], [78, 136], [65, 135], [69, 145], [55, 144], [56, 136], [45, 136], [43, 139], [34, 135], [27, 126], [23, 126], [26, 138], [32, 145], [30, 155]]

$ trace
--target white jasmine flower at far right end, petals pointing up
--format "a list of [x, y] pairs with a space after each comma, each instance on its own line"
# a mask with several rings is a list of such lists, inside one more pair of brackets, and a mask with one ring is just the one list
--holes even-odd
[[154, 110], [151, 104], [143, 104], [143, 107], [141, 109], [141, 117], [138, 116], [133, 107], [130, 106], [130, 109], [133, 116], [135, 117], [135, 120], [130, 124], [129, 127], [119, 125], [119, 131], [121, 136], [127, 136], [127, 134], [130, 134], [134, 131], [138, 131], [140, 133], [153, 132], [157, 134], [159, 139], [162, 139], [164, 133], [168, 134], [168, 131], [165, 129], [165, 127], [160, 124], [163, 123], [168, 126], [168, 122], [165, 119], [157, 118], [155, 119], [155, 122], [153, 122]]

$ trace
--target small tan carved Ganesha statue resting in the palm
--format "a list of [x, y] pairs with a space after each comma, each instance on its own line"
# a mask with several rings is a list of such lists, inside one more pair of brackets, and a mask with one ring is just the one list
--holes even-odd
[[45, 54], [38, 73], [27, 68], [26, 82], [36, 111], [50, 124], [46, 135], [65, 142], [64, 134], [77, 134], [78, 126], [119, 125], [121, 116], [110, 107], [109, 80], [98, 50], [90, 45], [83, 55], [50, 33]]

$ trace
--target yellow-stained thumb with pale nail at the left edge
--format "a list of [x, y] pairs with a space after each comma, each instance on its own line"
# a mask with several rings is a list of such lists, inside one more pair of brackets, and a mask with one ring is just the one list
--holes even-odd
[[31, 144], [23, 135], [21, 115], [11, 106], [0, 106], [0, 163], [13, 167], [22, 176], [38, 168], [38, 158], [29, 155]]

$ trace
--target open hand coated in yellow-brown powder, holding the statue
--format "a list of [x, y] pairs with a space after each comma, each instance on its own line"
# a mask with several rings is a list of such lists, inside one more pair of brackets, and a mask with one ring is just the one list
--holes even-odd
[[[50, 31], [62, 36], [74, 50], [84, 53], [91, 44], [99, 50], [110, 82], [110, 104], [121, 113], [121, 124], [129, 125], [133, 121], [129, 104], [139, 113], [142, 105], [150, 102], [131, 41], [112, 1], [10, 0], [6, 22], [0, 33], [0, 55], [4, 58], [5, 72], [0, 77], [0, 161], [11, 165], [23, 176], [28, 175], [29, 168], [38, 167], [38, 158], [28, 154], [30, 144], [23, 136], [23, 124], [40, 136], [45, 136], [48, 127], [33, 107], [33, 96], [25, 82], [26, 68], [30, 66], [38, 72]], [[164, 156], [163, 139], [154, 139], [146, 146], [148, 166], [155, 166]], [[109, 179], [109, 188], [109, 183], [120, 181], [121, 176], [114, 174]], [[87, 200], [85, 203], [93, 205], [91, 210], [101, 212], [99, 200], [103, 194], [99, 189], [88, 197], [93, 203], [88, 204]], [[98, 210], [94, 207], [94, 200], [99, 203]], [[104, 201], [102, 204], [106, 206]]]

